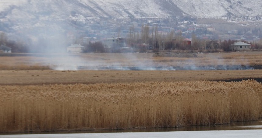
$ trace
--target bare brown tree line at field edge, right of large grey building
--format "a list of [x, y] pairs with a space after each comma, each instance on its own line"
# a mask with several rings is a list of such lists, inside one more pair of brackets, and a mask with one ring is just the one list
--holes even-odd
[[[126, 43], [138, 51], [143, 49], [139, 47], [144, 43], [152, 48], [153, 51], [164, 50], [191, 50], [191, 51], [230, 51], [230, 45], [238, 42], [239, 40], [207, 40], [200, 39], [195, 34], [192, 34], [190, 44], [185, 41], [182, 32], [175, 33], [159, 33], [158, 26], [151, 27], [149, 25], [142, 25], [141, 32], [134, 32], [134, 27], [130, 27]], [[249, 43], [242, 40], [242, 42]], [[252, 49], [261, 49], [262, 40], [250, 43]]]

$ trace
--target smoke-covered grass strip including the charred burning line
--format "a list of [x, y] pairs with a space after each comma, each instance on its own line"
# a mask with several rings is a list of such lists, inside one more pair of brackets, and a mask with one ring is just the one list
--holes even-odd
[[[155, 57], [154, 53], [0, 53], [0, 69], [77, 70], [253, 70], [261, 52], [205, 53], [197, 57]], [[39, 66], [39, 67], [37, 67]]]

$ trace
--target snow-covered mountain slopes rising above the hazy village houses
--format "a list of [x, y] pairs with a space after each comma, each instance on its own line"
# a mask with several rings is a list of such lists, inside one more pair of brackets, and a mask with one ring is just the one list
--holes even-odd
[[1, 0], [1, 22], [13, 29], [62, 21], [132, 22], [137, 19], [216, 18], [262, 20], [261, 0]]

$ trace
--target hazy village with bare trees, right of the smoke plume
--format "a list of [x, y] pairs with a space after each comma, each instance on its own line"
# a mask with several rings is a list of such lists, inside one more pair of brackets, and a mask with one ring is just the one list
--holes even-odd
[[[78, 49], [78, 52], [246, 51], [260, 49], [262, 45], [262, 33], [260, 28], [256, 27], [221, 29], [211, 25], [194, 25], [186, 21], [179, 22], [176, 26], [169, 27], [165, 22], [154, 20], [120, 26], [102, 21], [86, 26], [85, 31], [79, 32], [79, 36], [83, 37], [77, 38], [75, 49]], [[87, 42], [100, 42], [103, 48], [84, 50]], [[67, 51], [74, 50], [69, 46]]]

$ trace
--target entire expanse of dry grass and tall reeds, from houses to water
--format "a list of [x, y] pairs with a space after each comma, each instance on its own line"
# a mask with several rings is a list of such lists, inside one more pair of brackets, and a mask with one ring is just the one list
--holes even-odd
[[[262, 117], [262, 70], [119, 71], [73, 66], [262, 65], [262, 52], [0, 56], [0, 132], [213, 125]], [[70, 65], [70, 70], [67, 67]], [[57, 70], [56, 70], [57, 69]], [[63, 71], [58, 71], [58, 70]], [[240, 80], [240, 82], [224, 82]], [[222, 82], [221, 82], [222, 81]]]

